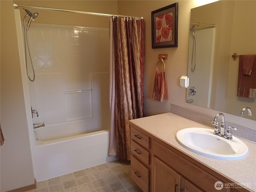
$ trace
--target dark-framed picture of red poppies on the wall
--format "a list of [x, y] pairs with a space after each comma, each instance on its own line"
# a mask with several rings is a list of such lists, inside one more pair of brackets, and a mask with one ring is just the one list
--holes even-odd
[[152, 49], [178, 47], [178, 2], [151, 12]]

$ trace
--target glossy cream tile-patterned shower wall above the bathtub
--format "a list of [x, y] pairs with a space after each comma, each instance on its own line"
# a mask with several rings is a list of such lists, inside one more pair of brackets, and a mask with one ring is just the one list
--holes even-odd
[[[107, 120], [108, 29], [33, 24], [28, 36], [36, 74], [28, 82], [30, 102], [39, 114], [33, 122]], [[30, 62], [28, 66], [32, 75]]]

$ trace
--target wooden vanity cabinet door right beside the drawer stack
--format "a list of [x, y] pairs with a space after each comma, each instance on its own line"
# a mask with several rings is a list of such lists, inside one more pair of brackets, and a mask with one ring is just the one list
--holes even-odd
[[181, 176], [152, 156], [151, 184], [153, 192], [179, 192]]

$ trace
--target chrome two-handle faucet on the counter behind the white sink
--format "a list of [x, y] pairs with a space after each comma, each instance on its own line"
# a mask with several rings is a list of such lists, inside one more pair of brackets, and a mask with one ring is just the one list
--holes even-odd
[[[223, 134], [221, 134], [221, 128], [219, 127], [218, 122], [216, 122], [219, 116], [222, 116], [222, 122], [221, 122], [221, 126], [220, 127], [223, 129]], [[216, 116], [214, 117], [214, 120], [211, 121], [211, 122], [212, 122], [213, 125], [215, 125], [214, 134], [222, 136], [222, 137], [224, 137], [224, 138], [226, 138], [228, 140], [232, 140], [233, 139], [232, 138], [231, 129], [233, 129], [233, 130], [237, 130], [237, 129], [234, 128], [234, 127], [228, 126], [228, 130], [226, 131], [226, 123], [225, 123], [225, 116], [224, 116], [224, 114], [222, 114], [222, 113], [216, 114]]]

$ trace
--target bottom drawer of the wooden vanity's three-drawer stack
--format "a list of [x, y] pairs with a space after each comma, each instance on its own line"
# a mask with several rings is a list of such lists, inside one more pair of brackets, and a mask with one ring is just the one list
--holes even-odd
[[149, 169], [131, 156], [131, 178], [143, 192], [149, 190]]

